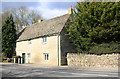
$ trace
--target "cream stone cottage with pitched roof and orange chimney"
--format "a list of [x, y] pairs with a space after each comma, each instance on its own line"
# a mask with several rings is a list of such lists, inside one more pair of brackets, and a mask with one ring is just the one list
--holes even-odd
[[67, 53], [75, 52], [65, 28], [71, 12], [72, 8], [69, 8], [68, 14], [39, 21], [20, 33], [16, 42], [16, 55], [22, 57], [22, 63], [67, 64]]

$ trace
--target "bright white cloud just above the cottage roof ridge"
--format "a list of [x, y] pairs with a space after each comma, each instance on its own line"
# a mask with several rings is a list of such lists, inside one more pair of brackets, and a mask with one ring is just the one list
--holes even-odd
[[47, 2], [40, 2], [40, 5], [38, 7], [31, 7], [33, 9], [36, 9], [37, 11], [40, 11], [41, 15], [45, 19], [51, 19], [53, 17], [57, 17], [60, 15], [67, 14], [67, 9], [62, 8], [50, 8], [48, 7], [49, 3]]

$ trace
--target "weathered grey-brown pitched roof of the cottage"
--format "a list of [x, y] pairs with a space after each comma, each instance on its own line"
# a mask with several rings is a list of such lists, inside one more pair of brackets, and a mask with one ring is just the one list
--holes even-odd
[[24, 29], [17, 41], [33, 39], [36, 37], [60, 33], [70, 14], [65, 14], [56, 18], [33, 24]]

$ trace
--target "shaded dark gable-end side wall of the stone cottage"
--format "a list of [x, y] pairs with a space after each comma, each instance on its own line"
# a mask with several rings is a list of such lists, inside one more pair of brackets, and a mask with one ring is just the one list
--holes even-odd
[[67, 53], [68, 52], [76, 52], [75, 45], [71, 43], [69, 36], [66, 34], [67, 34], [67, 30], [64, 27], [60, 33], [61, 65], [67, 65]]

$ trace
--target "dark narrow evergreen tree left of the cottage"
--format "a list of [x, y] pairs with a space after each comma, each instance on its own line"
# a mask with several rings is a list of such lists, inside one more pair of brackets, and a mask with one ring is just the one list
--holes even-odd
[[2, 53], [6, 57], [12, 57], [15, 53], [16, 36], [13, 16], [10, 15], [2, 26]]

